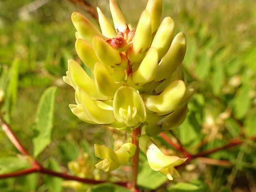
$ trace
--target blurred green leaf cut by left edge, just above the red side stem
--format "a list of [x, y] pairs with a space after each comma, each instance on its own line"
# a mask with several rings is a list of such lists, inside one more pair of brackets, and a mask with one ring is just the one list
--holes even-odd
[[0, 174], [12, 173], [31, 167], [28, 161], [17, 156], [0, 158]]

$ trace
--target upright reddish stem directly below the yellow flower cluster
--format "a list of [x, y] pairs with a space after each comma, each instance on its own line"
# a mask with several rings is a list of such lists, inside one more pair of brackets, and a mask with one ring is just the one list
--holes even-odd
[[135, 154], [133, 156], [133, 179], [132, 179], [132, 186], [131, 186], [133, 191], [136, 191], [136, 187], [137, 187], [137, 175], [138, 175], [139, 152], [140, 152], [138, 137], [140, 137], [140, 134], [141, 134], [140, 126], [138, 128], [133, 129], [132, 143], [136, 147]]

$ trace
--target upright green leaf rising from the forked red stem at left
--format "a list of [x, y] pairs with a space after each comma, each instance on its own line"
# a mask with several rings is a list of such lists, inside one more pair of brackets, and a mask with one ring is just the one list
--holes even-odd
[[55, 92], [55, 87], [45, 90], [38, 104], [35, 120], [35, 129], [38, 131], [38, 135], [33, 138], [33, 155], [35, 157], [51, 142]]

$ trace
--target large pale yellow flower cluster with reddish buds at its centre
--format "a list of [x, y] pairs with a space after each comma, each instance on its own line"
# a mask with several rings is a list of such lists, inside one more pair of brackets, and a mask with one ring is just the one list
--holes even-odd
[[[72, 14], [77, 30], [76, 51], [92, 70], [92, 78], [80, 64], [69, 60], [63, 79], [76, 90], [76, 104], [69, 105], [71, 111], [92, 124], [118, 129], [146, 126], [151, 136], [179, 126], [186, 118], [187, 102], [195, 87], [194, 83], [187, 84], [181, 65], [186, 52], [185, 34], [180, 32], [173, 38], [175, 24], [171, 17], [164, 18], [156, 30], [162, 0], [148, 1], [136, 29], [127, 23], [116, 0], [110, 0], [110, 10], [114, 28], [97, 8], [101, 32], [82, 14]], [[95, 154], [103, 150], [96, 148]], [[145, 153], [150, 156], [149, 149]], [[107, 155], [97, 156], [104, 159], [97, 167], [105, 171], [124, 164], [118, 154], [114, 155], [115, 164], [109, 163]], [[168, 168], [177, 175], [172, 165], [181, 161], [153, 169], [168, 175]]]

